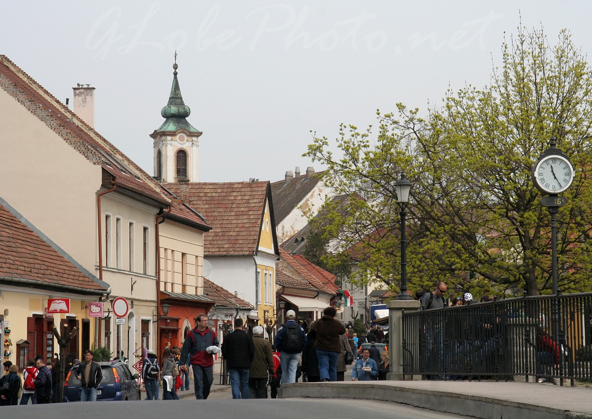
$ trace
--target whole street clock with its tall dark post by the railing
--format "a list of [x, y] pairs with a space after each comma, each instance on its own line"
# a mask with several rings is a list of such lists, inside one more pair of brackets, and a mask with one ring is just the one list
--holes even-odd
[[[559, 300], [557, 278], [557, 214], [559, 208], [567, 204], [567, 199], [558, 196], [567, 190], [574, 181], [575, 171], [567, 156], [557, 148], [557, 139], [551, 137], [549, 148], [542, 153], [532, 168], [532, 180], [535, 187], [543, 194], [540, 204], [549, 209], [551, 215], [551, 275], [553, 279], [553, 295], [551, 302], [551, 335], [558, 347], [564, 340], [559, 325]], [[562, 354], [560, 355], [563, 356]], [[563, 376], [563, 363], [559, 362], [559, 376]], [[563, 385], [563, 379], [560, 379]]]

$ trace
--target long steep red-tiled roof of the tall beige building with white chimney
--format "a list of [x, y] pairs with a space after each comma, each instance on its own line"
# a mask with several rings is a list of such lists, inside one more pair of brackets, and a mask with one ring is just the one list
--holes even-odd
[[[43, 121], [66, 143], [94, 164], [101, 164], [118, 183], [142, 196], [168, 204], [158, 183], [114, 145], [89, 127], [31, 76], [0, 55], [0, 88]], [[108, 184], [111, 187], [110, 184]]]

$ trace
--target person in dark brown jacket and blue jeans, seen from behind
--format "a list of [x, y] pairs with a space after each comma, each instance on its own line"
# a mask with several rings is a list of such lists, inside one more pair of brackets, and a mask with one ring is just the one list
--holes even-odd
[[317, 320], [317, 358], [318, 372], [321, 381], [337, 381], [337, 359], [342, 352], [340, 335], [345, 333], [345, 327], [334, 319], [337, 310], [327, 307], [323, 310], [323, 317]]

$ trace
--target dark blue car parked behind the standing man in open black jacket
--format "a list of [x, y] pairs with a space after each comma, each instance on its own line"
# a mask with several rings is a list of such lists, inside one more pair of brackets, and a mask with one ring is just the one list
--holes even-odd
[[[99, 362], [103, 372], [103, 380], [96, 389], [96, 401], [116, 400], [141, 400], [140, 386], [137, 378], [132, 375], [127, 364], [121, 361]], [[78, 364], [75, 364], [64, 382], [63, 402], [80, 401], [80, 380], [73, 372]]]

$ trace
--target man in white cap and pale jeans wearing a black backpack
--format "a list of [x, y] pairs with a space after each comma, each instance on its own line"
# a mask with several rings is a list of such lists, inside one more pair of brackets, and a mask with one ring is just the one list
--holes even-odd
[[294, 310], [288, 310], [286, 318], [288, 320], [281, 325], [275, 335], [275, 346], [279, 350], [279, 361], [282, 367], [282, 384], [296, 382], [298, 360], [306, 346], [306, 333], [296, 323]]

